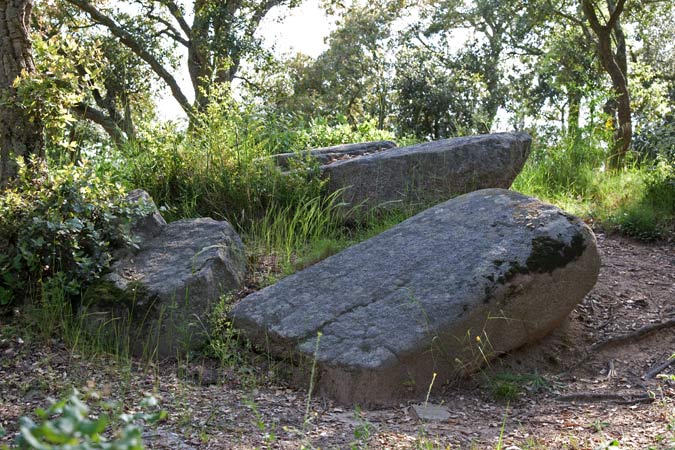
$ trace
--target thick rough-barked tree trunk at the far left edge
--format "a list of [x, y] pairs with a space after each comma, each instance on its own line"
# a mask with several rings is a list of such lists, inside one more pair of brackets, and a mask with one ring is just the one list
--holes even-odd
[[14, 80], [35, 70], [28, 27], [32, 0], [0, 0], [0, 186], [17, 172], [18, 156], [44, 156], [42, 121], [17, 104]]

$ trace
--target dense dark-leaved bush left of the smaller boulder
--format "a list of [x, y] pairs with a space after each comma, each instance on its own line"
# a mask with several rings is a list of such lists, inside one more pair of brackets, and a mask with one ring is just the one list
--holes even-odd
[[73, 295], [95, 281], [114, 247], [133, 244], [128, 226], [142, 207], [123, 194], [87, 164], [47, 170], [21, 162], [0, 197], [0, 304], [57, 275]]

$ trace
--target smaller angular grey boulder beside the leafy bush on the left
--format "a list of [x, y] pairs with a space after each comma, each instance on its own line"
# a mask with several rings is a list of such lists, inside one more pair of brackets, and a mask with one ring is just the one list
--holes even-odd
[[229, 223], [172, 222], [115, 262], [88, 299], [87, 323], [128, 336], [134, 354], [184, 354], [206, 342], [208, 314], [241, 287], [245, 271], [244, 246]]

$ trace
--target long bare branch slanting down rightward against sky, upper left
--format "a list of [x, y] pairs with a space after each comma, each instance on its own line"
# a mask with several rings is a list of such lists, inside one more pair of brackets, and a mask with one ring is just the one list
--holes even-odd
[[132, 52], [138, 55], [143, 61], [145, 61], [162, 80], [169, 86], [171, 93], [174, 98], [178, 101], [181, 108], [190, 115], [192, 113], [192, 106], [188, 101], [185, 94], [181, 90], [180, 86], [176, 82], [176, 79], [169, 73], [168, 70], [155, 58], [149, 51], [147, 51], [135, 38], [134, 36], [120, 27], [113, 19], [103, 14], [101, 11], [96, 9], [91, 3], [87, 0], [66, 0], [72, 5], [78, 7], [82, 11], [89, 14], [89, 16], [96, 23], [103, 25], [110, 32], [116, 36], [122, 44], [126, 45]]

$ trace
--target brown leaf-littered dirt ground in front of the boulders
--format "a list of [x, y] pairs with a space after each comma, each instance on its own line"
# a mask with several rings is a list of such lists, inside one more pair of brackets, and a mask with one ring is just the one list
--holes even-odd
[[[7, 432], [0, 445], [11, 442], [21, 415], [75, 387], [120, 400], [127, 411], [144, 393], [158, 395], [169, 417], [146, 429], [152, 449], [596, 449], [613, 441], [624, 449], [675, 449], [675, 383], [647, 376], [675, 353], [675, 244], [597, 237], [598, 283], [568, 322], [432, 396], [430, 403], [449, 412], [440, 422], [419, 421], [411, 404], [359, 411], [308, 402], [306, 391], [267, 381], [264, 363], [218, 370], [209, 360], [85, 356], [34, 337], [16, 318], [0, 318], [0, 424]], [[675, 365], [660, 373], [675, 373]], [[515, 383], [524, 389], [507, 403], [498, 399], [499, 374], [529, 374], [529, 381]]]

